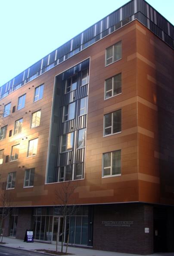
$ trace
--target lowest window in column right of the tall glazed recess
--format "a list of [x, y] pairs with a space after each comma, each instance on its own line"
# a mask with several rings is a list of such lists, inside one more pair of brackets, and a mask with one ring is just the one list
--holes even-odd
[[103, 154], [103, 177], [121, 174], [121, 150]]

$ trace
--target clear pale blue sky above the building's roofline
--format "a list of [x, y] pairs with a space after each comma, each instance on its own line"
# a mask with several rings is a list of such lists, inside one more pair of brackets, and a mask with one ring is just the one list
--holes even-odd
[[[0, 0], [0, 86], [128, 0]], [[174, 25], [174, 0], [147, 0]]]

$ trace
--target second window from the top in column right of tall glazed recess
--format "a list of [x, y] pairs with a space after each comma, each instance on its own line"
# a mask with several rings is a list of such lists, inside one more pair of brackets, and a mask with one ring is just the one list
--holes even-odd
[[105, 99], [121, 94], [121, 74], [115, 75], [105, 81]]

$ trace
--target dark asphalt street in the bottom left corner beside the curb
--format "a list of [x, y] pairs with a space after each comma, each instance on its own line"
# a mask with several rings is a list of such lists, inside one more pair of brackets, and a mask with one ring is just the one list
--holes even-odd
[[23, 251], [21, 249], [13, 249], [8, 247], [0, 246], [0, 256], [43, 256], [43, 253], [34, 253]]

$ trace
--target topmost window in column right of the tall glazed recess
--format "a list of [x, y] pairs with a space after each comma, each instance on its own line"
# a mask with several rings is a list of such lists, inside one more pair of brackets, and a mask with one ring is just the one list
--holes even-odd
[[121, 41], [106, 49], [105, 65], [109, 65], [112, 62], [117, 61], [118, 59], [121, 59]]

